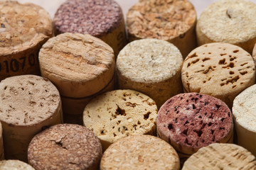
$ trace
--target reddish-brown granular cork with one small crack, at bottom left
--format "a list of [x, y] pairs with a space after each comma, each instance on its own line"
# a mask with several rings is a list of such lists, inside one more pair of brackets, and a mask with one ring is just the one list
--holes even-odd
[[28, 147], [28, 162], [35, 169], [97, 169], [102, 146], [96, 135], [81, 125], [55, 125], [39, 133]]

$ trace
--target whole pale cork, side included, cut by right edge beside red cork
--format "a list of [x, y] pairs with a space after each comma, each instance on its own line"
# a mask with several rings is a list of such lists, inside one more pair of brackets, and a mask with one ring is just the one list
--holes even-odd
[[245, 147], [256, 156], [256, 86], [250, 86], [238, 96], [233, 104], [235, 131], [238, 135], [238, 145]]

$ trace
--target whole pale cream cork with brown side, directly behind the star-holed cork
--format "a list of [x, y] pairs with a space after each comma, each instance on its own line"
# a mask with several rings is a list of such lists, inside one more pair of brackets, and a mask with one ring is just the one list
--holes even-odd
[[183, 92], [182, 64], [181, 52], [171, 43], [134, 40], [117, 57], [118, 86], [148, 95], [160, 108], [169, 98]]

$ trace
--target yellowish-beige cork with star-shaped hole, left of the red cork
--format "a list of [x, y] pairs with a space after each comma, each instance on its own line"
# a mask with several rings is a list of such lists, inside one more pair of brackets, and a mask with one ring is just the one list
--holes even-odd
[[102, 142], [103, 150], [129, 135], [156, 135], [156, 103], [132, 90], [110, 91], [85, 107], [83, 123]]

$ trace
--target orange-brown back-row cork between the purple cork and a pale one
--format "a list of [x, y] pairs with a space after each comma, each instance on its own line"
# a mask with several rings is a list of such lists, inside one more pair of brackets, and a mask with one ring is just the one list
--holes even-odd
[[138, 1], [127, 13], [129, 41], [157, 38], [173, 43], [185, 58], [196, 45], [196, 10], [188, 0]]

